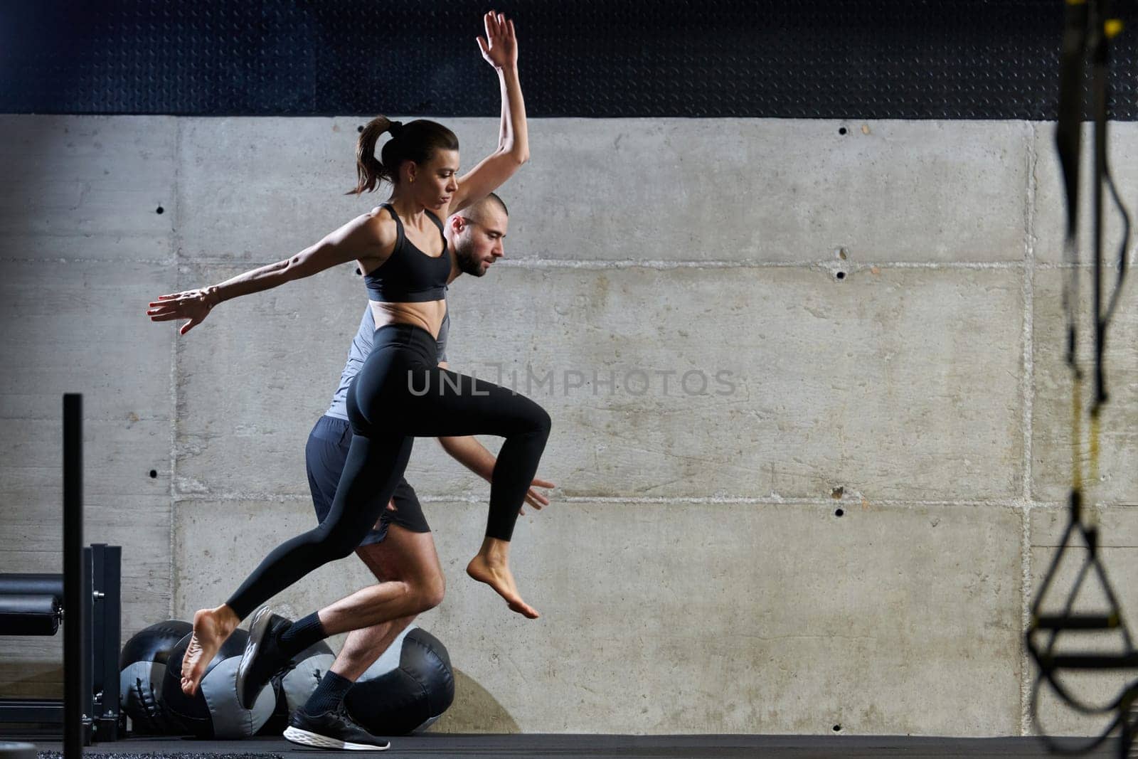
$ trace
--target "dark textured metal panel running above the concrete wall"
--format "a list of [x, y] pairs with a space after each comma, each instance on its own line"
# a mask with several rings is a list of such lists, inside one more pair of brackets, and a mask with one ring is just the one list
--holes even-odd
[[[0, 110], [495, 115], [471, 0], [0, 0]], [[1055, 117], [1062, 0], [511, 0], [534, 116]], [[1113, 64], [1138, 117], [1138, 2]]]

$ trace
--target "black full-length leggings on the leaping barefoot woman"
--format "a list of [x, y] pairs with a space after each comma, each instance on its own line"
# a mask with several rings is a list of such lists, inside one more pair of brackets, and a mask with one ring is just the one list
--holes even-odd
[[436, 350], [435, 338], [419, 327], [376, 330], [372, 352], [348, 389], [352, 447], [332, 509], [249, 575], [226, 601], [238, 617], [360, 545], [395, 493], [417, 437], [505, 438], [494, 465], [486, 536], [510, 539], [550, 436], [550, 415], [512, 390], [439, 369]]

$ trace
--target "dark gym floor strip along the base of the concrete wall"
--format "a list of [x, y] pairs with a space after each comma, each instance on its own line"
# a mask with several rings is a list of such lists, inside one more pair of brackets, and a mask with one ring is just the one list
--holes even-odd
[[[63, 744], [33, 740], [42, 752], [59, 752]], [[1081, 741], [1064, 741], [1074, 748]], [[1089, 757], [1116, 757], [1112, 740]], [[131, 737], [114, 743], [88, 746], [86, 754], [122, 759], [140, 754], [179, 757], [209, 754], [218, 757], [362, 756], [358, 751], [316, 751], [280, 737], [254, 737], [244, 741], [203, 741], [181, 737]], [[948, 739], [908, 736], [797, 736], [797, 735], [463, 735], [427, 733], [391, 740], [385, 759], [398, 757], [636, 757], [637, 759], [687, 757], [762, 757], [762, 759], [815, 759], [828, 757], [1049, 757], [1047, 748], [1034, 737]]]

